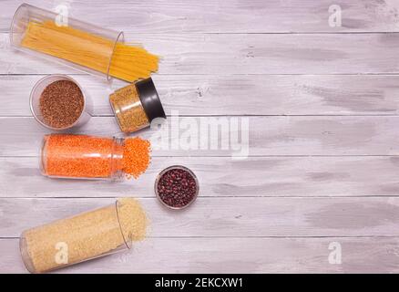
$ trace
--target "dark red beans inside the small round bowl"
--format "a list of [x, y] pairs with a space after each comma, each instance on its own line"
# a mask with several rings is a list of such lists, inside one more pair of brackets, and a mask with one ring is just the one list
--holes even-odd
[[183, 208], [195, 199], [197, 183], [184, 169], [171, 169], [162, 174], [157, 185], [159, 199], [173, 208]]

